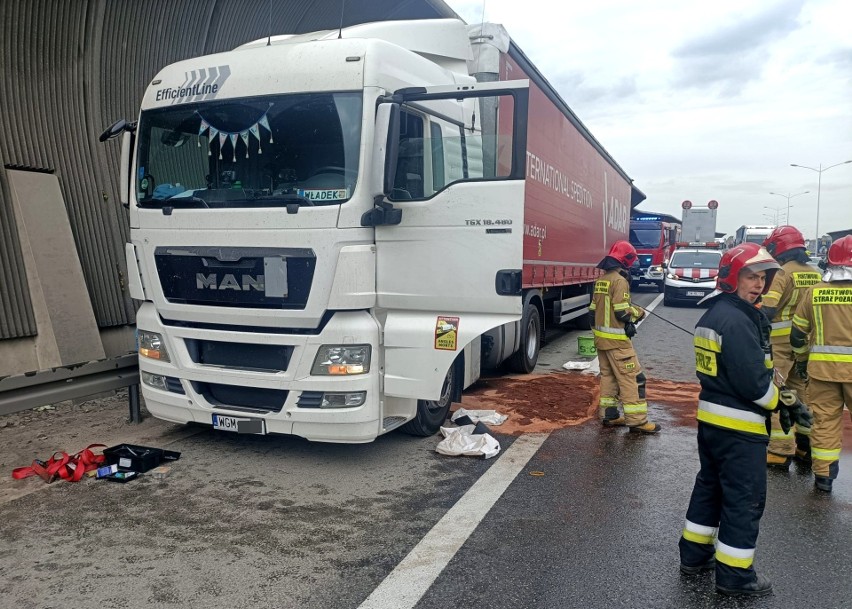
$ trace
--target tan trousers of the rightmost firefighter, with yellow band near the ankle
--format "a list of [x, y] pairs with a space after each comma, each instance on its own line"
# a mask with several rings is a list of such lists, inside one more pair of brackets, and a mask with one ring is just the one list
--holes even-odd
[[835, 383], [811, 377], [808, 397], [814, 413], [811, 469], [815, 476], [837, 478], [843, 433], [843, 403], [852, 404], [852, 383]]

